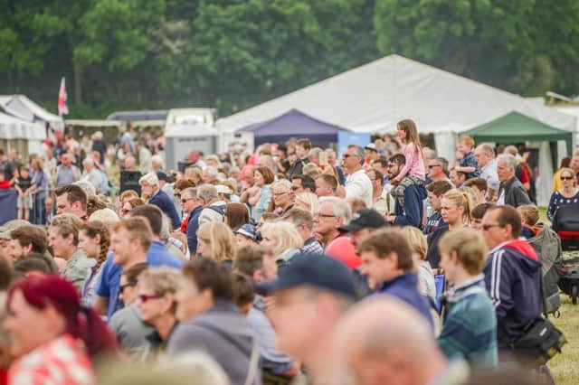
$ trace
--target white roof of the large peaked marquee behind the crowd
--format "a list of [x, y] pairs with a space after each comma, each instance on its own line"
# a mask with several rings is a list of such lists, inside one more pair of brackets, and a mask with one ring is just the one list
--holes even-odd
[[[439, 155], [450, 160], [457, 134], [511, 111], [569, 131], [575, 130], [576, 119], [502, 89], [390, 55], [224, 117], [217, 127], [236, 131], [291, 108], [358, 132], [394, 132], [397, 121], [413, 118], [421, 133], [434, 135]], [[542, 146], [540, 157], [551, 158], [548, 146]], [[545, 193], [552, 171], [540, 170]]]

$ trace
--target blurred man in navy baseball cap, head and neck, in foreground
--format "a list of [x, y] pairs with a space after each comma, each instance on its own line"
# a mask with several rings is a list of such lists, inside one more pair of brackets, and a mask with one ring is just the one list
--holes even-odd
[[332, 383], [327, 376], [334, 368], [327, 353], [340, 317], [357, 297], [350, 270], [334, 258], [302, 255], [281, 269], [277, 279], [256, 287], [275, 296], [275, 347], [303, 362], [311, 383]]

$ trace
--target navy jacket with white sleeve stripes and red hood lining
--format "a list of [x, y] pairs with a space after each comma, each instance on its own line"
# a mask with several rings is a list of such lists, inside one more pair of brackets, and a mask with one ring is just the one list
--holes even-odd
[[490, 252], [484, 273], [497, 314], [498, 347], [505, 347], [541, 318], [541, 263], [526, 239], [516, 239]]

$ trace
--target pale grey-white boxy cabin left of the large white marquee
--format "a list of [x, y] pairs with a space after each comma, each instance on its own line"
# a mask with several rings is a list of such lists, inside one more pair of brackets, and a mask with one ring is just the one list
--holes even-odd
[[167, 170], [177, 169], [193, 150], [204, 155], [217, 154], [219, 132], [214, 127], [201, 124], [177, 125], [165, 133], [165, 164]]

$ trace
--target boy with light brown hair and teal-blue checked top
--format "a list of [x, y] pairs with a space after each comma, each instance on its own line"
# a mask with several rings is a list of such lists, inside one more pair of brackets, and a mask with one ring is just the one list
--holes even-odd
[[471, 366], [493, 367], [498, 362], [497, 318], [481, 274], [488, 253], [485, 240], [478, 231], [463, 228], [444, 234], [439, 247], [441, 268], [452, 284], [442, 301], [441, 351]]

